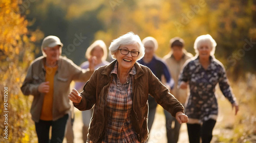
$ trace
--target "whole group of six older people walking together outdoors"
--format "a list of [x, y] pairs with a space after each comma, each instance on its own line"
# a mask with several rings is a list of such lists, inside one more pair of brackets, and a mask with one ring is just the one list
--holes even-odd
[[164, 109], [167, 142], [178, 142], [182, 123], [187, 123], [189, 142], [210, 142], [218, 83], [235, 114], [239, 110], [225, 68], [214, 56], [216, 45], [208, 34], [197, 37], [193, 57], [184, 40], [175, 37], [169, 42], [171, 52], [161, 59], [155, 55], [154, 37], [141, 41], [129, 32], [111, 42], [111, 63], [105, 43], [96, 40], [86, 51], [88, 61], [79, 67], [61, 56], [58, 37], [46, 37], [43, 56], [31, 63], [21, 87], [34, 97], [31, 115], [38, 142], [62, 142], [66, 126], [72, 125], [70, 101], [82, 111], [84, 142], [147, 142], [158, 104]]

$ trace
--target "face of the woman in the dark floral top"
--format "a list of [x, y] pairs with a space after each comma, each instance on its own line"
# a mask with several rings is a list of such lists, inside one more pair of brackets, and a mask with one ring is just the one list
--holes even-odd
[[212, 48], [208, 42], [200, 43], [200, 46], [198, 47], [199, 58], [208, 59], [210, 57], [211, 50]]

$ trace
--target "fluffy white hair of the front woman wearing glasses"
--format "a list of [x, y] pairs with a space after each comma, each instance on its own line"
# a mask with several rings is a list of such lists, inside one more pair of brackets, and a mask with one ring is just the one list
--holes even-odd
[[109, 50], [112, 58], [116, 59], [115, 53], [117, 52], [117, 50], [121, 45], [131, 45], [131, 44], [138, 45], [138, 51], [140, 53], [137, 57], [137, 61], [143, 58], [145, 55], [144, 45], [142, 44], [140, 37], [138, 35], [135, 35], [133, 32], [128, 32], [111, 42]]

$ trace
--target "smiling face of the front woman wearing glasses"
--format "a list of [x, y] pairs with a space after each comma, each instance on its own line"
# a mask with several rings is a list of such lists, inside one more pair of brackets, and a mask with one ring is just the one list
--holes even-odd
[[[120, 45], [119, 49], [125, 49], [129, 51], [138, 51], [138, 44], [131, 45]], [[118, 70], [130, 70], [134, 63], [137, 61], [137, 57], [132, 57], [131, 52], [127, 55], [121, 54], [120, 50], [115, 53], [116, 59], [118, 61]]]

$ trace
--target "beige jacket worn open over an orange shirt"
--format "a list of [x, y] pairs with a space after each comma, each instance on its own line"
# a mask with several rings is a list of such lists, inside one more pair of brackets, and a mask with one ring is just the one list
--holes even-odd
[[[40, 83], [45, 82], [46, 69], [44, 67], [46, 57], [41, 56], [35, 59], [28, 68], [27, 76], [20, 88], [24, 95], [33, 95], [34, 99], [31, 106], [32, 120], [39, 121], [44, 101], [45, 93], [38, 91]], [[60, 56], [58, 60], [58, 69], [54, 76], [54, 94], [53, 94], [53, 121], [69, 113], [70, 103], [68, 94], [70, 93], [70, 83], [72, 80], [86, 82], [89, 80], [93, 71], [81, 69], [70, 59]]]

